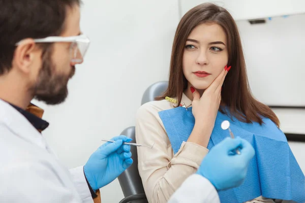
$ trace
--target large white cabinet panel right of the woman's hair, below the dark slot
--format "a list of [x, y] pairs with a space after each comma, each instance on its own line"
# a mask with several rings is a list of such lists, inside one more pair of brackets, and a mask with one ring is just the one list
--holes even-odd
[[269, 106], [305, 107], [305, 14], [237, 26], [254, 96]]

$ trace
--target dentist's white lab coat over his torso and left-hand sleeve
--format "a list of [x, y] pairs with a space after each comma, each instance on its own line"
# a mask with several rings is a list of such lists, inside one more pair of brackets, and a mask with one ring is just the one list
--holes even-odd
[[0, 99], [0, 202], [93, 202], [83, 166], [67, 170], [42, 135]]

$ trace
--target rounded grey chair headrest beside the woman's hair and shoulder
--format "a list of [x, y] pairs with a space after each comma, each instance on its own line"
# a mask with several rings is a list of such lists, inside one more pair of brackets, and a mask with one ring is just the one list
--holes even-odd
[[142, 96], [141, 105], [155, 100], [157, 96], [161, 96], [163, 92], [166, 91], [168, 87], [168, 81], [156, 82], [150, 85], [144, 92]]

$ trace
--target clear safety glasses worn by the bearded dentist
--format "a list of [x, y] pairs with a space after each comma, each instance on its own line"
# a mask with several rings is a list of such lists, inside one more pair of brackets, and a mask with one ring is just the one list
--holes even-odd
[[[70, 37], [47, 37], [41, 39], [34, 39], [36, 43], [54, 43], [54, 42], [71, 42], [70, 45], [70, 59], [73, 63], [82, 63], [85, 53], [89, 47], [90, 40], [85, 35], [70, 36]], [[20, 45], [22, 40], [16, 44]]]

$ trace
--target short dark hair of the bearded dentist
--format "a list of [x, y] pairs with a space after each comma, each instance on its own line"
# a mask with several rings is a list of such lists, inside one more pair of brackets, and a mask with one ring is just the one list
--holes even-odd
[[[17, 42], [59, 36], [67, 8], [80, 4], [81, 0], [0, 0], [0, 75], [11, 70]], [[43, 50], [51, 45], [43, 44]]]

